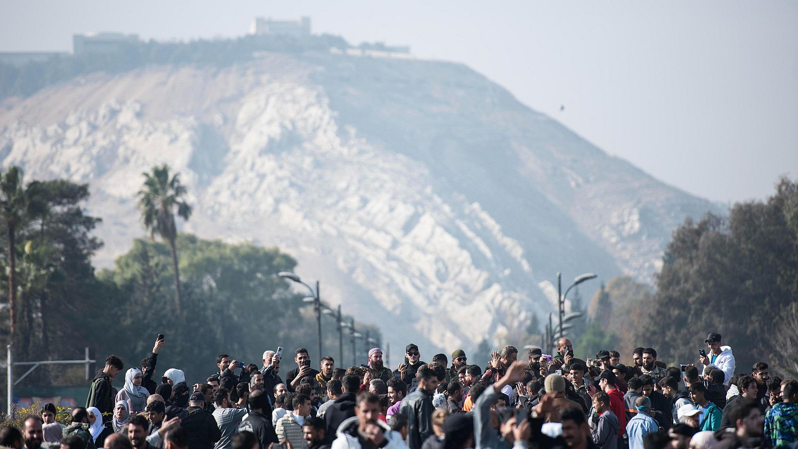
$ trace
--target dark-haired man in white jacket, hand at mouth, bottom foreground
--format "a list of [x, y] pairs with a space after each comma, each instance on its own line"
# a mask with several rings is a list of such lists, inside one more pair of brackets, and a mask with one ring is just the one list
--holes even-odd
[[368, 391], [359, 394], [355, 401], [355, 415], [338, 426], [337, 438], [331, 449], [407, 449], [399, 432], [392, 431], [388, 424], [379, 419], [380, 413], [379, 396]]

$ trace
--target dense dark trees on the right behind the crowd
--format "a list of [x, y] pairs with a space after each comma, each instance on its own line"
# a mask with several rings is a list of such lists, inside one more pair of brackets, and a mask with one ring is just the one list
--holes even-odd
[[733, 205], [729, 215], [687, 218], [649, 286], [629, 277], [602, 285], [582, 343], [655, 348], [668, 364], [695, 363], [705, 336], [719, 332], [737, 371], [764, 360], [798, 376], [798, 182], [780, 179], [765, 201]]

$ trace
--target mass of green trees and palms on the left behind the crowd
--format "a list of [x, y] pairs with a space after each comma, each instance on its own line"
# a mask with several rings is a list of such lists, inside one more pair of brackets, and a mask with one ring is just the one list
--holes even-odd
[[[268, 348], [316, 347], [313, 311], [274, 276], [293, 271], [293, 257], [178, 232], [176, 218], [188, 220], [192, 210], [180, 176], [162, 165], [142, 181], [138, 206], [150, 238], [134, 240], [114, 268], [97, 271], [91, 258], [102, 242], [92, 234], [101, 219], [83, 209], [89, 186], [26, 184], [18, 167], [2, 173], [0, 301], [7, 305], [0, 320], [10, 325], [0, 328], [0, 342], [13, 342], [16, 360], [82, 359], [89, 346], [99, 360], [116, 353], [125, 366], [137, 366], [164, 333], [159, 371], [179, 367], [199, 378], [215, 370], [209, 355], [227, 352], [259, 364]], [[379, 338], [378, 328], [358, 328]], [[338, 358], [338, 321], [322, 319], [322, 332], [325, 355]], [[83, 371], [40, 367], [22, 386], [81, 385]]]

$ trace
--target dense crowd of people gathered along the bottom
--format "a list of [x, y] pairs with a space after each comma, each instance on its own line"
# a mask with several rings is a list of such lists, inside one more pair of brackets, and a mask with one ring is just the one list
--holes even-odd
[[[667, 367], [654, 348], [631, 363], [602, 350], [586, 360], [561, 338], [551, 356], [515, 347], [485, 366], [462, 349], [421, 361], [415, 344], [396, 370], [373, 348], [368, 363], [318, 370], [305, 348], [280, 371], [282, 348], [263, 364], [227, 354], [191, 383], [180, 369], [156, 382], [162, 336], [140, 367], [117, 356], [91, 383], [72, 423], [55, 422], [52, 403], [23, 428], [0, 429], [14, 449], [798, 449], [798, 381], [770, 377], [768, 364], [740, 370], [721, 335], [710, 333], [695, 364]], [[282, 368], [286, 368], [283, 366]]]

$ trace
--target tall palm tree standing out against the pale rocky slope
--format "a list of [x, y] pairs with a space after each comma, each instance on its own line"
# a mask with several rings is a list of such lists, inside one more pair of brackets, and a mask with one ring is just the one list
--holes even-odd
[[175, 270], [175, 308], [177, 316], [182, 320], [180, 313], [180, 271], [177, 268], [177, 228], [175, 226], [175, 213], [188, 221], [192, 215], [192, 206], [184, 201], [186, 188], [180, 185], [180, 173], [169, 177], [169, 166], [152, 167], [152, 172], [144, 174], [144, 187], [139, 191], [139, 209], [144, 228], [150, 232], [150, 237], [155, 239], [158, 234], [162, 239], [169, 241], [172, 249], [172, 266]]

